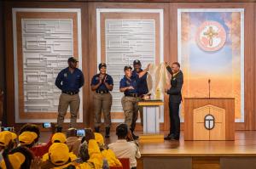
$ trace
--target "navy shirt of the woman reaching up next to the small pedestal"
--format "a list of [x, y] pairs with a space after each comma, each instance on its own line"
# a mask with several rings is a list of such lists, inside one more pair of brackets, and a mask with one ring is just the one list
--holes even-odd
[[137, 80], [138, 80], [137, 75], [131, 76], [131, 80], [128, 79], [126, 76], [124, 76], [120, 81], [119, 88], [132, 86], [134, 89], [125, 90], [125, 95], [134, 94], [134, 93], [137, 94]]

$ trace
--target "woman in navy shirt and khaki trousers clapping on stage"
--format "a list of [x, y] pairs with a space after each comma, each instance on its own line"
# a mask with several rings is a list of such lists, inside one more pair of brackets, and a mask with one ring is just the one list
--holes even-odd
[[109, 138], [111, 126], [111, 105], [112, 95], [109, 91], [113, 90], [113, 78], [107, 74], [107, 65], [101, 63], [98, 66], [100, 73], [92, 77], [90, 87], [94, 93], [94, 127], [95, 132], [100, 132], [102, 111], [105, 123], [105, 138]]

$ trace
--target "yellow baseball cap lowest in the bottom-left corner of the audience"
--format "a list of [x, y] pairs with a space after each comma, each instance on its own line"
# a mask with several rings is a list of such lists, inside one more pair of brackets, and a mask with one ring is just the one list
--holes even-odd
[[[8, 155], [8, 157], [9, 157], [9, 162], [11, 163], [11, 165], [13, 166], [14, 169], [20, 168], [20, 166], [23, 164], [23, 162], [26, 159], [25, 155], [23, 155], [20, 152], [14, 153], [12, 155]], [[1, 161], [0, 166], [1, 166], [1, 168], [6, 169], [4, 161]]]

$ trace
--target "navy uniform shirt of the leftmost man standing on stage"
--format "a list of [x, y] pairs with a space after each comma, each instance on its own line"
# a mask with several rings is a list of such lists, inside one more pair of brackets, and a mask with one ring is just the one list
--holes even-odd
[[79, 88], [83, 85], [84, 75], [78, 68], [75, 68], [73, 73], [68, 70], [68, 67], [61, 70], [55, 81], [55, 86], [62, 92], [79, 92]]

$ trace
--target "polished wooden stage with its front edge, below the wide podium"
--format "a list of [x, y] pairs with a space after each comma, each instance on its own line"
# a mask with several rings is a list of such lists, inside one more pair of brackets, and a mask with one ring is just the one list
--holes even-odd
[[[139, 133], [139, 132], [137, 132]], [[43, 132], [41, 141], [46, 141], [49, 132]], [[106, 143], [115, 142], [111, 133]], [[256, 131], [237, 131], [235, 141], [180, 141], [139, 140], [142, 158], [137, 168], [256, 168]]]

